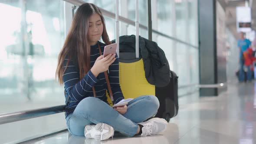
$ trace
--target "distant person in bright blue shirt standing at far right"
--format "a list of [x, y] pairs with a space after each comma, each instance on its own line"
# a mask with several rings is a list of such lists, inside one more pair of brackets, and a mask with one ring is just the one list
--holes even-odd
[[[244, 82], [245, 74], [244, 74], [244, 59], [243, 52], [247, 52], [251, 42], [249, 39], [245, 39], [244, 33], [240, 32], [240, 39], [238, 40], [237, 46], [240, 49], [240, 70], [239, 70], [239, 82]], [[247, 66], [247, 80], [250, 82], [252, 80], [252, 71], [249, 66]]]

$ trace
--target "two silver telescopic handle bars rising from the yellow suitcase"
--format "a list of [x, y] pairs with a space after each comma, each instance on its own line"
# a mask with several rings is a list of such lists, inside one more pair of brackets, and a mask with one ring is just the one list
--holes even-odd
[[[115, 42], [118, 44], [116, 53], [119, 57], [119, 13], [118, 13], [118, 0], [115, 0]], [[135, 28], [136, 28], [136, 38], [135, 38], [135, 53], [136, 58], [139, 58], [139, 7], [138, 0], [135, 0]]]

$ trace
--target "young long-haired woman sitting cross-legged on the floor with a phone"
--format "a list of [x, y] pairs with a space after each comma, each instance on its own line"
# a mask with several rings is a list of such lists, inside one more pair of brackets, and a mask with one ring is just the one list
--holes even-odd
[[[102, 38], [104, 43], [98, 40]], [[124, 96], [119, 85], [119, 64], [116, 54], [100, 56], [104, 46], [111, 44], [101, 11], [92, 3], [82, 4], [75, 13], [69, 34], [59, 54], [56, 78], [65, 86], [66, 123], [70, 133], [86, 138], [106, 140], [114, 130], [128, 136], [158, 134], [167, 121], [152, 118], [159, 108], [153, 95], [143, 95], [128, 105], [112, 108], [106, 97], [108, 78], [113, 104]], [[95, 125], [96, 124], [96, 125]]]

